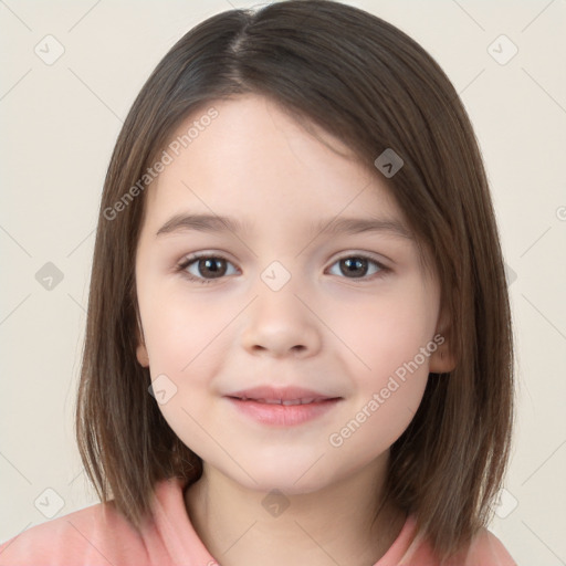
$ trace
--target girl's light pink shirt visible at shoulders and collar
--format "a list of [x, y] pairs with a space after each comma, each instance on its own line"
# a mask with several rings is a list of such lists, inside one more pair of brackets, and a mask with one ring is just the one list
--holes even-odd
[[[153, 521], [142, 534], [116, 511], [97, 503], [35, 525], [0, 545], [0, 566], [218, 566], [192, 527], [181, 480], [156, 486]], [[426, 543], [409, 547], [415, 520], [375, 566], [438, 566]], [[500, 541], [483, 531], [454, 566], [516, 566]]]

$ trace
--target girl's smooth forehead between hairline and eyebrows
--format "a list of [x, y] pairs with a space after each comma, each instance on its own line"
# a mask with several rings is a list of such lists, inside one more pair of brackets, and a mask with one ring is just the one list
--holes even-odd
[[[216, 117], [203, 119], [210, 108]], [[244, 222], [361, 212], [402, 219], [373, 164], [363, 166], [339, 139], [261, 95], [193, 112], [165, 149], [170, 163], [146, 196], [154, 227], [182, 209]]]

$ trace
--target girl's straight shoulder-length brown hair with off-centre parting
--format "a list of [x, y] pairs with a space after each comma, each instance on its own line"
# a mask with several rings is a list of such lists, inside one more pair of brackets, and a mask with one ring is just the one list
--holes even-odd
[[134, 102], [107, 170], [94, 250], [75, 422], [88, 478], [138, 527], [157, 481], [192, 483], [202, 473], [136, 360], [144, 193], [115, 218], [105, 211], [188, 114], [248, 92], [322, 126], [376, 175], [385, 149], [403, 159], [382, 180], [429, 252], [458, 364], [430, 375], [391, 447], [387, 493], [448, 556], [490, 518], [513, 420], [511, 315], [489, 185], [467, 112], [434, 60], [386, 21], [329, 0], [209, 18], [172, 46]]

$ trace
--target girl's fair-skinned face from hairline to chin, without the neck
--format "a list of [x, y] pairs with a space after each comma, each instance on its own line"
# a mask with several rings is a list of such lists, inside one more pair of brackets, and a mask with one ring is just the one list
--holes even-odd
[[[429, 370], [442, 370], [438, 282], [398, 231], [318, 227], [347, 218], [403, 224], [377, 169], [338, 156], [258, 95], [213, 106], [208, 127], [203, 111], [178, 128], [174, 138], [201, 125], [179, 156], [167, 149], [172, 163], [146, 195], [137, 354], [158, 379], [159, 408], [208, 465], [251, 489], [308, 492], [382, 469]], [[156, 235], [176, 214], [228, 216], [245, 231]], [[176, 272], [193, 253], [219, 259]], [[303, 422], [261, 422], [241, 410], [250, 401], [228, 397], [258, 386], [340, 399]], [[311, 415], [262, 407], [268, 419]]]

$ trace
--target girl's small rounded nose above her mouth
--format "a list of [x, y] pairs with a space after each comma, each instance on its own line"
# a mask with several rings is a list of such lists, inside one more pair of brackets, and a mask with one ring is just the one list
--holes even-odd
[[322, 323], [316, 310], [287, 283], [279, 291], [265, 285], [247, 310], [242, 346], [252, 355], [310, 357], [319, 352]]

